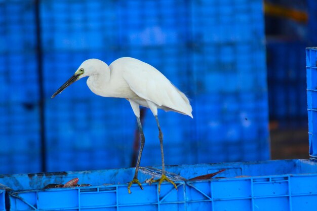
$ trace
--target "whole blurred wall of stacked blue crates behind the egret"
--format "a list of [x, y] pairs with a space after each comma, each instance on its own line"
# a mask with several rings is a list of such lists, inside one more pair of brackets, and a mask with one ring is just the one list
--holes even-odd
[[[269, 159], [262, 1], [45, 0], [41, 43], [34, 1], [0, 5], [1, 174], [43, 171], [41, 131], [46, 171], [129, 167], [137, 125], [126, 100], [94, 95], [86, 79], [50, 98], [84, 60], [123, 56], [156, 67], [190, 98], [193, 119], [159, 112], [166, 164]], [[160, 165], [149, 110], [143, 127], [141, 165]]]

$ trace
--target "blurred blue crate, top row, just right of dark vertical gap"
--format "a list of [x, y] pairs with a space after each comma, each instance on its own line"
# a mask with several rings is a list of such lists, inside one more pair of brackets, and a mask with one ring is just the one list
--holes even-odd
[[114, 2], [45, 1], [40, 4], [45, 52], [108, 50], [118, 45]]

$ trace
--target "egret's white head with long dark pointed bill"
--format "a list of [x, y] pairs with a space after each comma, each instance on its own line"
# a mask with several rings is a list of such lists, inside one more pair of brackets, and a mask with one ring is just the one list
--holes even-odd
[[107, 66], [106, 63], [99, 59], [88, 59], [84, 61], [76, 72], [52, 95], [51, 98], [54, 98], [56, 95], [60, 94], [73, 82], [87, 76], [98, 74], [104, 66]]

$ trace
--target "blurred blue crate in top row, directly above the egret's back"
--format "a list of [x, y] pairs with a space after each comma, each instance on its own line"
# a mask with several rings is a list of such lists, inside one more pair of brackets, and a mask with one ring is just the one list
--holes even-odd
[[126, 1], [119, 12], [122, 47], [170, 46], [188, 40], [183, 1]]

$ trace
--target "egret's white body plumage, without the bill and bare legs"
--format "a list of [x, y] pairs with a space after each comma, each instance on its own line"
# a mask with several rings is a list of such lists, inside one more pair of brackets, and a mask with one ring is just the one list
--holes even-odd
[[[87, 67], [94, 68], [89, 71]], [[187, 97], [159, 70], [145, 62], [131, 57], [122, 57], [108, 66], [100, 60], [89, 59], [78, 69], [81, 68], [87, 72], [80, 78], [91, 74], [87, 85], [96, 95], [126, 98], [130, 102], [134, 101], [147, 108], [150, 108], [148, 102], [152, 102], [157, 108], [192, 117], [192, 108]], [[134, 113], [139, 116], [139, 112]], [[157, 111], [153, 114], [157, 115]]]

